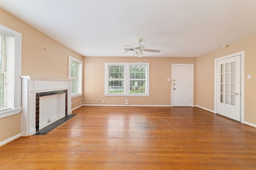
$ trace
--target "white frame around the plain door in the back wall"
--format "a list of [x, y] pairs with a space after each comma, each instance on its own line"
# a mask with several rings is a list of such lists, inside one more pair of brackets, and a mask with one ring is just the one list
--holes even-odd
[[171, 107], [173, 107], [173, 67], [174, 66], [191, 66], [191, 107], [194, 106], [194, 64], [172, 64], [172, 78], [171, 78]]

